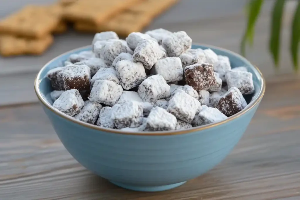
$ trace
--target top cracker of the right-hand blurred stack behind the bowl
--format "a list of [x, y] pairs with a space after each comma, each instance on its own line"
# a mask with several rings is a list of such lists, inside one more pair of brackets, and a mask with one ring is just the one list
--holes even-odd
[[100, 25], [111, 16], [140, 1], [76, 1], [64, 10], [64, 18], [72, 22]]

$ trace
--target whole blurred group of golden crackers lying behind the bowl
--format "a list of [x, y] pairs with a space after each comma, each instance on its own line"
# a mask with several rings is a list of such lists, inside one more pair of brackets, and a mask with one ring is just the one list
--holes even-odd
[[67, 31], [115, 31], [122, 37], [141, 31], [176, 1], [58, 1], [29, 5], [0, 21], [0, 54], [40, 55], [53, 43], [52, 34]]

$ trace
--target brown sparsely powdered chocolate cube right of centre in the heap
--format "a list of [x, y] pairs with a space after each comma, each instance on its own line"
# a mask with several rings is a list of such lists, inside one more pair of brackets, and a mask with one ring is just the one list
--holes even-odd
[[187, 85], [192, 86], [195, 90], [208, 90], [216, 84], [214, 69], [211, 64], [193, 64], [185, 67], [184, 77]]

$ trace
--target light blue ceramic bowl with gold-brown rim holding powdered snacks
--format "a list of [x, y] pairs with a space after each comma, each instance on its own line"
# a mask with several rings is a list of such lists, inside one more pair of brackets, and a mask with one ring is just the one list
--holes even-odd
[[52, 88], [44, 76], [61, 66], [70, 54], [91, 50], [90, 46], [48, 62], [35, 79], [35, 92], [59, 139], [84, 167], [127, 189], [168, 190], [202, 175], [229, 154], [247, 129], [265, 91], [262, 74], [242, 56], [208, 45], [192, 48], [211, 48], [218, 55], [228, 56], [232, 68], [246, 66], [253, 74], [255, 94], [244, 110], [214, 124], [163, 132], [130, 133], [77, 121], [51, 106]]

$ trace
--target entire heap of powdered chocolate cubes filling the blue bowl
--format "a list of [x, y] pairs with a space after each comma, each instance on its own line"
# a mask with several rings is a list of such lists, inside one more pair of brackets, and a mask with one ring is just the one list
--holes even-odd
[[[225, 120], [247, 106], [252, 73], [184, 31], [95, 34], [92, 51], [49, 70], [53, 107], [80, 121], [126, 131], [164, 131]], [[226, 85], [222, 88], [222, 85]], [[227, 90], [228, 88], [228, 90]]]

